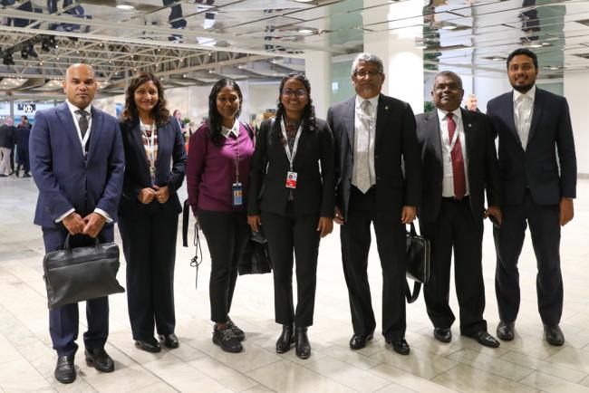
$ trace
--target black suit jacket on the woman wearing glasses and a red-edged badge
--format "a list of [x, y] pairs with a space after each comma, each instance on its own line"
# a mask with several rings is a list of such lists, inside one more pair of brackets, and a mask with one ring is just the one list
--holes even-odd
[[[256, 150], [252, 159], [247, 214], [256, 216], [260, 210], [284, 215], [289, 189], [285, 186], [290, 170], [285, 146], [276, 136], [282, 135], [280, 122], [271, 120], [260, 125]], [[294, 157], [297, 174], [294, 214], [333, 217], [333, 135], [325, 120], [317, 120], [317, 130], [304, 130]], [[268, 133], [271, 133], [270, 135]], [[257, 196], [257, 197], [255, 197]]]

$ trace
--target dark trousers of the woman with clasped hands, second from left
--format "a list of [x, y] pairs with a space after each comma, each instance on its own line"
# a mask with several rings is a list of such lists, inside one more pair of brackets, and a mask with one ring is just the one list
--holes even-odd
[[178, 216], [120, 216], [127, 261], [127, 304], [133, 340], [170, 334], [176, 327], [174, 265]]

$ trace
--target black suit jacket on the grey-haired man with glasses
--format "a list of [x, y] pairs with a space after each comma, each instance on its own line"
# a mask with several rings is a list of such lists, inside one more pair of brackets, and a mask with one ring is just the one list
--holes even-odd
[[[335, 139], [335, 203], [344, 219], [352, 187], [355, 102], [354, 96], [327, 111]], [[383, 94], [376, 114], [374, 169], [379, 215], [399, 220], [402, 206], [420, 205], [422, 174], [415, 117], [407, 102]]]

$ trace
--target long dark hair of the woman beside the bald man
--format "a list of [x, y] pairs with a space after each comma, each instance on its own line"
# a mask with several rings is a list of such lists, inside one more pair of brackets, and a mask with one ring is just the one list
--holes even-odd
[[156, 126], [163, 126], [169, 121], [169, 110], [166, 108], [167, 102], [164, 98], [161, 82], [158, 77], [150, 72], [139, 72], [130, 80], [129, 87], [125, 91], [125, 110], [122, 112], [122, 120], [129, 123], [139, 121], [139, 110], [137, 110], [137, 104], [135, 103], [135, 91], [146, 81], [152, 81], [158, 89], [158, 102], [151, 110], [151, 115], [156, 120]]

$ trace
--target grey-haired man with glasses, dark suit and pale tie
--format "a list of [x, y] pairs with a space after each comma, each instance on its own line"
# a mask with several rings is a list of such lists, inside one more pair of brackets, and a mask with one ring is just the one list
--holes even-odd
[[383, 81], [381, 60], [358, 55], [352, 63], [357, 95], [327, 112], [335, 139], [334, 220], [342, 225], [350, 348], [363, 348], [376, 328], [366, 273], [372, 223], [382, 267], [382, 335], [393, 350], [406, 355], [405, 224], [417, 215], [421, 163], [413, 111], [407, 102], [381, 94]]

